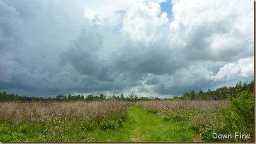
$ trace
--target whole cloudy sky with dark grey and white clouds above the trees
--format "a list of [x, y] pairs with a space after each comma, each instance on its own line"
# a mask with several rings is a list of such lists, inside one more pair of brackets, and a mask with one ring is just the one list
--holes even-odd
[[253, 1], [0, 0], [0, 91], [172, 98], [254, 79]]

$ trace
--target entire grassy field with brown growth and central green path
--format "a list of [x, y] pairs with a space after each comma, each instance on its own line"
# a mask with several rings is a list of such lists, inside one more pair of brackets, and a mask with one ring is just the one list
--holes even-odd
[[[254, 121], [254, 111], [235, 102], [150, 100], [130, 107], [119, 100], [5, 102], [0, 103], [0, 141], [254, 141], [254, 123], [246, 113]], [[250, 138], [212, 138], [212, 132], [233, 137], [241, 132]]]

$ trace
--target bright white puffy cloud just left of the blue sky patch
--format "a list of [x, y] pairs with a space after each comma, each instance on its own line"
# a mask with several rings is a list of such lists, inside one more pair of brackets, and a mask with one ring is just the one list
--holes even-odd
[[121, 31], [135, 42], [150, 44], [161, 39], [161, 28], [165, 27], [167, 22], [167, 14], [161, 14], [159, 4], [137, 3], [127, 10]]

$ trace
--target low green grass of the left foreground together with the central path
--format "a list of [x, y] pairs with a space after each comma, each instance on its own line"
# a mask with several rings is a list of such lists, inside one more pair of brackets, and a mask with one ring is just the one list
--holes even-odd
[[19, 123], [1, 121], [0, 141], [6, 142], [178, 142], [193, 141], [195, 132], [184, 122], [164, 121], [162, 116], [147, 113], [143, 108], [131, 106], [122, 126], [102, 130], [99, 125], [61, 119], [41, 123], [21, 121]]

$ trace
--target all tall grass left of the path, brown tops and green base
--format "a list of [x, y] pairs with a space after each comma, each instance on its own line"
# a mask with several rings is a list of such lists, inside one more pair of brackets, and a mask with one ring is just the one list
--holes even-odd
[[118, 128], [127, 114], [118, 100], [0, 103], [0, 141], [90, 141], [92, 130]]

